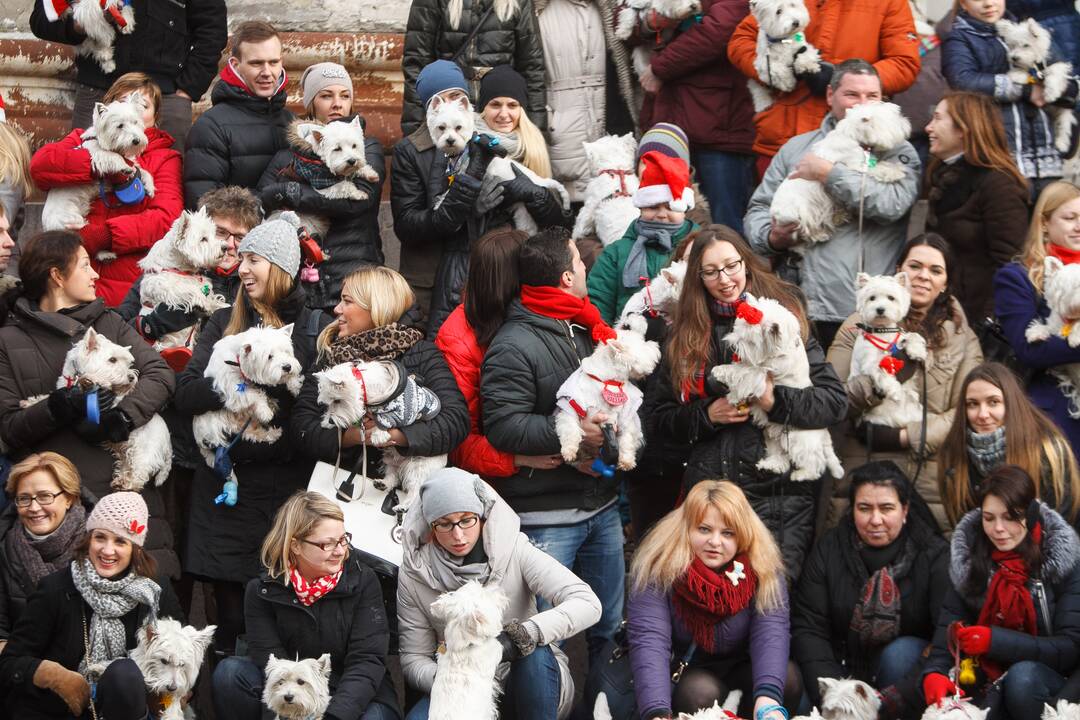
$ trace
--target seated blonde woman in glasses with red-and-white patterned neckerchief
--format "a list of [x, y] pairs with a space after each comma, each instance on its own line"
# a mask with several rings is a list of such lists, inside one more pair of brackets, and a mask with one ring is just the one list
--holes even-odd
[[379, 581], [351, 554], [341, 508], [318, 492], [297, 492], [278, 511], [262, 542], [264, 571], [247, 583], [247, 656], [214, 671], [218, 718], [262, 717], [262, 673], [270, 655], [330, 655], [326, 720], [401, 717], [387, 673], [390, 629]]

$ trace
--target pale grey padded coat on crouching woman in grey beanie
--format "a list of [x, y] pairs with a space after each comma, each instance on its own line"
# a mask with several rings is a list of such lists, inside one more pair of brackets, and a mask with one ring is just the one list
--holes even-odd
[[[562, 675], [558, 718], [570, 714], [573, 679], [569, 662], [557, 643], [592, 626], [600, 619], [600, 602], [589, 585], [557, 560], [537, 549], [521, 531], [521, 521], [489, 485], [477, 479], [488, 495], [482, 541], [491, 566], [488, 583], [498, 583], [510, 598], [503, 617], [531, 620], [540, 628], [541, 643], [551, 646]], [[435, 650], [443, 641], [444, 623], [431, 614], [431, 603], [448, 589], [424, 565], [418, 552], [421, 544], [434, 542], [423, 521], [422, 498], [405, 516], [404, 557], [397, 578], [397, 626], [402, 673], [405, 681], [424, 693], [435, 680]], [[554, 606], [537, 612], [536, 597]], [[509, 664], [499, 668], [504, 678]]]

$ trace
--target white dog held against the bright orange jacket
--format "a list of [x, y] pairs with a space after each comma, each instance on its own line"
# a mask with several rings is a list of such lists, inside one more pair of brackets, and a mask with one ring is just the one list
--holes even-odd
[[751, 0], [750, 12], [757, 19], [754, 70], [761, 82], [748, 80], [746, 86], [754, 112], [761, 112], [772, 105], [769, 87], [792, 92], [796, 73], [821, 69], [821, 53], [807, 42], [810, 13], [802, 0]]

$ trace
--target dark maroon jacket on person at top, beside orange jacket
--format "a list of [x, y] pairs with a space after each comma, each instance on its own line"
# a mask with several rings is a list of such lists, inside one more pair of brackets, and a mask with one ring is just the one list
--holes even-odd
[[751, 152], [753, 104], [746, 78], [728, 60], [728, 40], [748, 12], [747, 0], [704, 0], [701, 22], [653, 53], [663, 86], [646, 96], [642, 127], [675, 123], [696, 147]]

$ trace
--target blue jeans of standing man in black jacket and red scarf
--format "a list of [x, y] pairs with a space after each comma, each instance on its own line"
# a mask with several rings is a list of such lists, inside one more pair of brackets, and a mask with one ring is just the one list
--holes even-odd
[[[577, 525], [522, 528], [522, 531], [534, 545], [585, 581], [599, 598], [600, 620], [585, 630], [592, 664], [595, 654], [615, 637], [622, 623], [626, 562], [622, 555], [622, 520], [618, 506], [611, 505]], [[551, 607], [545, 599], [537, 598], [537, 609], [541, 612]]]

